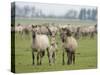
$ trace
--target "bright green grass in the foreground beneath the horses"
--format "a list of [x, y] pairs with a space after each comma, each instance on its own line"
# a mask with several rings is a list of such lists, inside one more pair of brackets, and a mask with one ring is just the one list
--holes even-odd
[[[58, 42], [58, 52], [56, 53], [56, 63], [49, 66], [47, 54], [43, 58], [43, 65], [32, 65], [31, 35], [29, 37], [21, 36], [16, 33], [15, 36], [15, 69], [17, 73], [25, 72], [46, 72], [97, 68], [97, 38], [82, 38], [78, 40], [79, 47], [76, 51], [76, 64], [62, 65], [62, 46], [59, 36], [56, 36]], [[67, 59], [67, 58], [66, 58]]]

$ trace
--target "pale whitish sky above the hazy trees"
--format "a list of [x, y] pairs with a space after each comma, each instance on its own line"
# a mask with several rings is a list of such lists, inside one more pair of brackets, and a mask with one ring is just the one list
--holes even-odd
[[16, 2], [16, 5], [23, 7], [27, 5], [29, 7], [35, 6], [36, 9], [41, 9], [46, 15], [54, 14], [56, 16], [64, 15], [68, 10], [74, 9], [79, 12], [81, 8], [95, 9], [95, 6], [80, 6], [80, 5], [67, 5], [67, 4], [46, 4], [46, 3], [33, 3], [33, 2]]

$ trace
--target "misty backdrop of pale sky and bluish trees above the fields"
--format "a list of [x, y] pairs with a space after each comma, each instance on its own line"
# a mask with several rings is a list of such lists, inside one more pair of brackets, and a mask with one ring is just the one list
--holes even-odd
[[97, 7], [16, 2], [11, 4], [11, 17], [97, 21]]

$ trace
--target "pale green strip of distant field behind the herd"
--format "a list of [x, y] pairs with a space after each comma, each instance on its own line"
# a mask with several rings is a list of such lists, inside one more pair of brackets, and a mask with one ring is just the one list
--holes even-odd
[[22, 25], [28, 25], [28, 24], [43, 24], [43, 23], [56, 23], [56, 24], [71, 24], [71, 25], [95, 25], [96, 21], [81, 21], [81, 20], [69, 20], [69, 19], [52, 19], [52, 18], [33, 18], [33, 19], [23, 19], [23, 18], [16, 18], [15, 24], [18, 23]]

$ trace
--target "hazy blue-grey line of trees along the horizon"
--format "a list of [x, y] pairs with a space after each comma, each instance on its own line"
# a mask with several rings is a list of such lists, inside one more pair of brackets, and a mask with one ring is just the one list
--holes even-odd
[[64, 19], [80, 19], [80, 20], [97, 20], [97, 8], [81, 8], [77, 10], [70, 9], [64, 15], [56, 16], [54, 14], [46, 15], [41, 9], [37, 9], [35, 6], [29, 7], [25, 5], [20, 7], [17, 5], [11, 6], [11, 17], [22, 17], [22, 18], [64, 18]]

